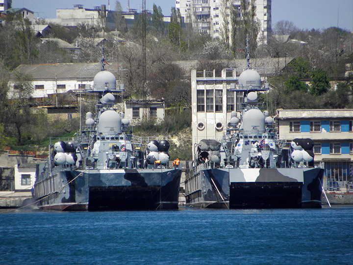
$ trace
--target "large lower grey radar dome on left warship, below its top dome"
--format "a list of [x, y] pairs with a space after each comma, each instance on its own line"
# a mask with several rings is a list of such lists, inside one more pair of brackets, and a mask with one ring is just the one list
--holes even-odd
[[105, 110], [99, 118], [97, 131], [98, 133], [110, 135], [122, 133], [119, 113], [110, 109]]

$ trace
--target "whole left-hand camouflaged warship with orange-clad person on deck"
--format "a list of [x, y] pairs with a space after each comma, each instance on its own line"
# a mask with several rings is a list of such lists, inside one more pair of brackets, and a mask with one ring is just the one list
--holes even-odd
[[44, 210], [177, 209], [181, 169], [168, 166], [169, 142], [144, 141], [128, 130], [129, 120], [114, 108], [115, 76], [102, 57], [93, 89], [86, 90], [96, 95], [96, 115], [86, 113], [75, 137], [50, 141], [33, 197]]

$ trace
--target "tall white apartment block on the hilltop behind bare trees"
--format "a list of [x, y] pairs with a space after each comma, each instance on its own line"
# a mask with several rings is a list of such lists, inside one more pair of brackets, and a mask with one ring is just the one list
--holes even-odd
[[[224, 12], [221, 11], [224, 2], [225, 0], [176, 0], [176, 8], [185, 23], [192, 23], [194, 30], [206, 32], [216, 38], [220, 37], [220, 30], [225, 21]], [[229, 2], [236, 9], [240, 9], [240, 0]], [[271, 32], [271, 0], [255, 0], [255, 6], [255, 17], [261, 24], [258, 39], [266, 42]], [[229, 12], [228, 8], [226, 10]]]

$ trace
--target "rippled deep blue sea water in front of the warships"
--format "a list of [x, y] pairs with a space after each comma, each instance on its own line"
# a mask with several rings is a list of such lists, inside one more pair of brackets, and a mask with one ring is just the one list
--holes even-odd
[[353, 208], [0, 212], [0, 265], [352, 265]]

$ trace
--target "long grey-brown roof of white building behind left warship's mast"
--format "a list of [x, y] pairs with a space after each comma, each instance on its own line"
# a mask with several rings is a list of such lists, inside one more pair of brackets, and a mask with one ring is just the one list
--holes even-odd
[[[115, 75], [119, 65], [110, 63], [105, 69]], [[31, 75], [33, 80], [93, 80], [101, 71], [101, 63], [49, 63], [49, 64], [21, 64], [16, 68], [20, 72]]]

